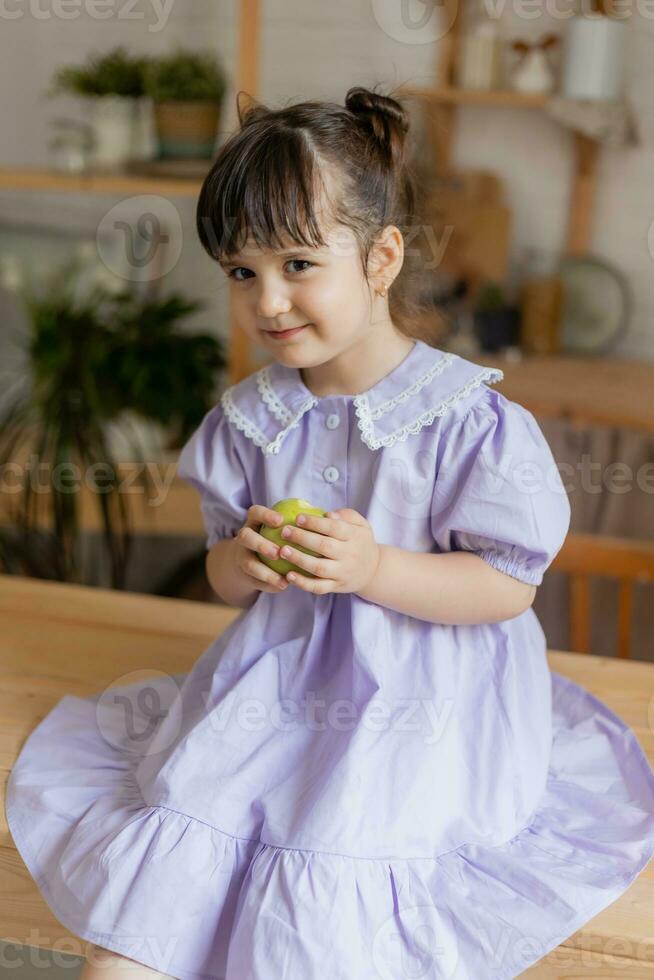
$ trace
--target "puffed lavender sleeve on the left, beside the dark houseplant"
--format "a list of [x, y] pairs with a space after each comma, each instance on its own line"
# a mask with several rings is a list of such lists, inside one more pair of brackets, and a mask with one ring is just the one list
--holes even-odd
[[207, 550], [233, 537], [252, 504], [250, 488], [234, 433], [218, 403], [182, 447], [177, 475], [200, 492]]

